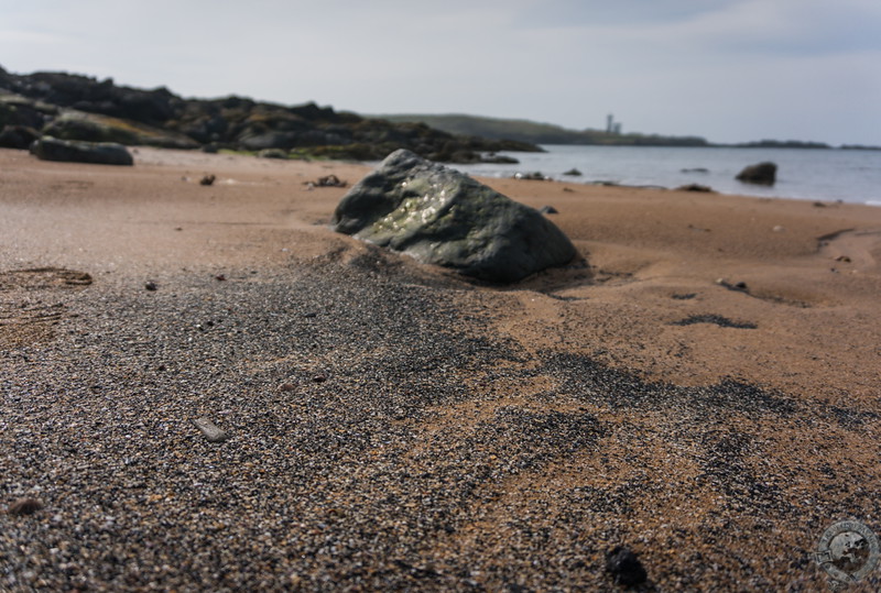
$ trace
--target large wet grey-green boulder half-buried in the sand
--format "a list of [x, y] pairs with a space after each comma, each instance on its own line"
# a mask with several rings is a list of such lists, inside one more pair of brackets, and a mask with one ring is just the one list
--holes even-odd
[[516, 282], [572, 261], [568, 238], [537, 210], [398, 150], [355, 185], [334, 229], [476, 278]]

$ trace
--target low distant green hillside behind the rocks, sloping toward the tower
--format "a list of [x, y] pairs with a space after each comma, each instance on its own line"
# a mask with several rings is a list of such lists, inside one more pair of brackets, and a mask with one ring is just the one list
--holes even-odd
[[655, 134], [612, 134], [599, 130], [568, 130], [551, 123], [509, 120], [465, 114], [385, 114], [372, 116], [392, 122], [422, 122], [454, 134], [493, 140], [515, 140], [533, 144], [601, 144], [622, 146], [708, 146], [698, 136], [662, 136]]

